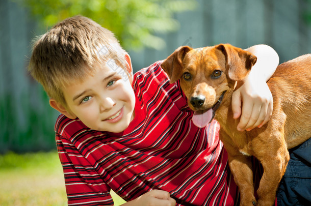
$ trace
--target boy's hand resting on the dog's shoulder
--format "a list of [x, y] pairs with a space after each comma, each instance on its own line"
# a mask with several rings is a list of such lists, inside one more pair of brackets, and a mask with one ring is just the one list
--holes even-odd
[[234, 119], [238, 119], [241, 116], [237, 129], [239, 131], [250, 131], [257, 126], [259, 128], [262, 127], [270, 119], [272, 106], [273, 98], [267, 83], [259, 80], [254, 81], [253, 79], [249, 81], [247, 79], [232, 94]]

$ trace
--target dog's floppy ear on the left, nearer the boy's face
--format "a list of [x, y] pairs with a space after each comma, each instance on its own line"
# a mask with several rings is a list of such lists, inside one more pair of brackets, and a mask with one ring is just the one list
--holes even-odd
[[184, 68], [183, 60], [186, 53], [191, 49], [189, 46], [180, 46], [161, 64], [162, 69], [169, 76], [171, 83], [177, 81], [182, 76]]

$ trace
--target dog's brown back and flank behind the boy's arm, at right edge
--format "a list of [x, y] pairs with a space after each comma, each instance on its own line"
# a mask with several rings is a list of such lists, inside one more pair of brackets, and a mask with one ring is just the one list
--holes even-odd
[[284, 137], [293, 148], [311, 133], [311, 54], [279, 65], [268, 85], [274, 101], [272, 119], [285, 120]]

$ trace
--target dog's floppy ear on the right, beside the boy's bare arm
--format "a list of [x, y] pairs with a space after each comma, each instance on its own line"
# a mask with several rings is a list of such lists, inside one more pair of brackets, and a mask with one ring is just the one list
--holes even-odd
[[227, 77], [234, 81], [243, 80], [257, 61], [252, 53], [230, 44], [220, 44], [216, 48], [225, 55]]

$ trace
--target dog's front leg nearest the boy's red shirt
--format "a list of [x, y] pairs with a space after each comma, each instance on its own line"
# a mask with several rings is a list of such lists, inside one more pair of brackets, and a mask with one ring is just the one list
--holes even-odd
[[241, 154], [231, 146], [230, 137], [220, 132], [221, 140], [228, 153], [229, 167], [240, 190], [240, 205], [256, 205], [254, 196], [253, 171], [250, 157]]

